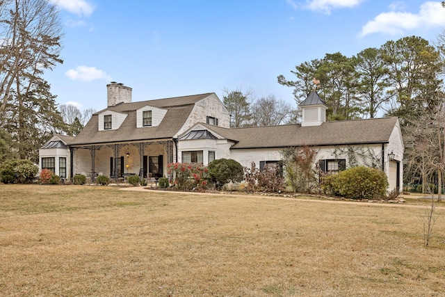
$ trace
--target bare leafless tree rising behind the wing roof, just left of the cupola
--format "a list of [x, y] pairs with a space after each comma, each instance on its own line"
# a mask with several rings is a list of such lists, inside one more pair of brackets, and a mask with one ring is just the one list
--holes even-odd
[[252, 116], [254, 126], [275, 126], [295, 122], [296, 111], [291, 104], [268, 95], [252, 104]]

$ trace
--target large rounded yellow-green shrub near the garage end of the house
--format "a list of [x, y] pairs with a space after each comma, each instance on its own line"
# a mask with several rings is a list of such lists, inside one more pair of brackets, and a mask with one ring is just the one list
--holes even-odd
[[323, 188], [350, 199], [385, 198], [388, 179], [385, 172], [358, 166], [325, 177]]

